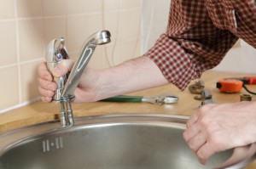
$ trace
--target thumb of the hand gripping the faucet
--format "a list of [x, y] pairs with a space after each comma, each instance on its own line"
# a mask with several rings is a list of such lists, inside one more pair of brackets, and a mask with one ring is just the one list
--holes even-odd
[[73, 67], [74, 61], [72, 59], [63, 59], [52, 71], [53, 76], [60, 77], [67, 74]]

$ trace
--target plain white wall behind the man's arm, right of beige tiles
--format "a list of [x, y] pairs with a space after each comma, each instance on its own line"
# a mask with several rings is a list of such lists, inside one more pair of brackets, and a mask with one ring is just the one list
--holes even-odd
[[[170, 3], [171, 0], [142, 0], [142, 53], [165, 32]], [[256, 74], [256, 49], [241, 41], [241, 46], [230, 49], [214, 70]]]

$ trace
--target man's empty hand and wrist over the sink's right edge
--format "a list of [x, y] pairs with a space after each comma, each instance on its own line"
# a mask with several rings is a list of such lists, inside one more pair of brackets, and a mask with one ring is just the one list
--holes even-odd
[[256, 102], [206, 104], [187, 121], [183, 138], [202, 164], [217, 152], [256, 141]]

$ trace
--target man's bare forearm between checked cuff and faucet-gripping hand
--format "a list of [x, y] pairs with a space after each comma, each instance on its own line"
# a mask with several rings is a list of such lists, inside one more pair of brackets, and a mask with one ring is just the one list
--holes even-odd
[[151, 59], [141, 56], [100, 72], [102, 88], [97, 99], [131, 93], [168, 83], [160, 69]]

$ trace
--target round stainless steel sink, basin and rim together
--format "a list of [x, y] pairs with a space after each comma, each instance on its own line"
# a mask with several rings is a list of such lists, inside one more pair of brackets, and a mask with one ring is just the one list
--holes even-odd
[[49, 121], [0, 135], [1, 169], [201, 169], [226, 161], [232, 150], [201, 165], [183, 140], [187, 116], [98, 115], [73, 127]]

